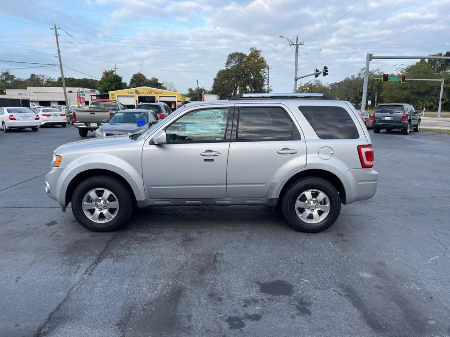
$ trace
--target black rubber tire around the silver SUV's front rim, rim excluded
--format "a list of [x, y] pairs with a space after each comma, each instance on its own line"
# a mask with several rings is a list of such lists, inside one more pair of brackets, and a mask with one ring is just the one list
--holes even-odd
[[[84, 213], [82, 204], [85, 195], [93, 189], [108, 189], [117, 197], [117, 214], [108, 222], [98, 223], [90, 220]], [[72, 195], [72, 213], [81, 226], [94, 232], [117, 231], [126, 225], [134, 209], [134, 196], [120, 180], [109, 176], [90, 177], [78, 185]]]

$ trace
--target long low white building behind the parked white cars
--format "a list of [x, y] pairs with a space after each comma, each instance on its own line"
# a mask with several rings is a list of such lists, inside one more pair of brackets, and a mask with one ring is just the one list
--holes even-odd
[[[90, 104], [90, 95], [98, 94], [96, 89], [86, 88], [69, 88], [66, 87], [67, 100], [69, 106], [77, 104], [77, 91], [84, 92], [84, 105]], [[30, 102], [37, 105], [51, 106], [51, 105], [66, 105], [64, 100], [63, 88], [58, 87], [27, 87], [27, 89], [6, 89], [6, 95], [0, 95], [0, 98], [28, 98]]]

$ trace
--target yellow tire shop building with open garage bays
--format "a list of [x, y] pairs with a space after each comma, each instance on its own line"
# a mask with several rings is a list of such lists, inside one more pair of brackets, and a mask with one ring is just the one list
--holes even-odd
[[182, 93], [163, 89], [139, 87], [109, 92], [109, 99], [121, 102], [126, 108], [134, 108], [138, 103], [157, 103], [164, 102], [175, 110], [182, 106], [185, 97]]

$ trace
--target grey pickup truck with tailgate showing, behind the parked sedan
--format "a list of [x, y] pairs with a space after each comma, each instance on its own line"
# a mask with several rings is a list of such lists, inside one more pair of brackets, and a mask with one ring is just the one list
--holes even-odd
[[125, 106], [116, 101], [92, 102], [90, 103], [89, 109], [75, 111], [72, 114], [73, 126], [78, 129], [81, 137], [86, 137], [88, 131], [95, 131], [114, 112], [123, 109], [125, 109]]

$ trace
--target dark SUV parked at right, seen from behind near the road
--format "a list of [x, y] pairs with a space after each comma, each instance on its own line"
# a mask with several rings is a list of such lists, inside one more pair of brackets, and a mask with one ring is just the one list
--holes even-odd
[[415, 132], [420, 130], [420, 116], [414, 106], [405, 103], [380, 104], [372, 115], [374, 133], [386, 129], [401, 129], [403, 134], [409, 134], [413, 128]]

